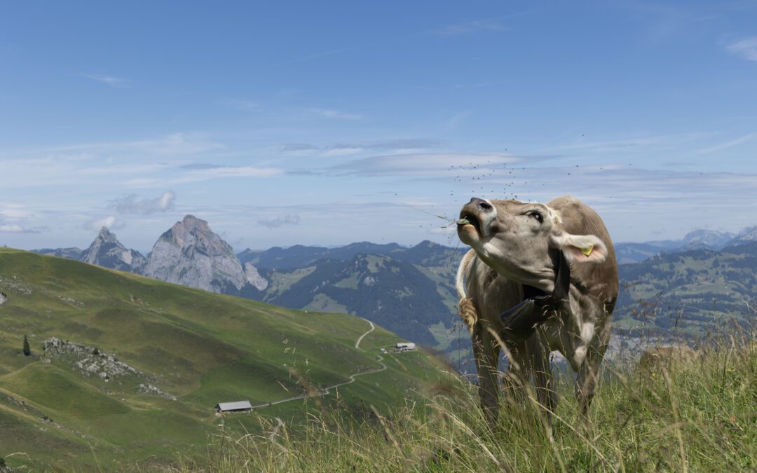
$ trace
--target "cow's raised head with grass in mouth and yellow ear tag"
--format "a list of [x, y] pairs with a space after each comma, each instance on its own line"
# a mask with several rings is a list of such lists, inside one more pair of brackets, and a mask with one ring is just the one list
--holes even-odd
[[544, 204], [472, 198], [460, 210], [457, 235], [507, 279], [552, 291], [555, 251], [571, 264], [601, 263], [607, 247], [596, 235], [571, 235]]

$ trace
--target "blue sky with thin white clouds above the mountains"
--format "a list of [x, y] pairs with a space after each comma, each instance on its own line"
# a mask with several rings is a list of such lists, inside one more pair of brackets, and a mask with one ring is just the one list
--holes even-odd
[[0, 4], [0, 244], [454, 245], [431, 214], [561, 194], [757, 224], [757, 2]]

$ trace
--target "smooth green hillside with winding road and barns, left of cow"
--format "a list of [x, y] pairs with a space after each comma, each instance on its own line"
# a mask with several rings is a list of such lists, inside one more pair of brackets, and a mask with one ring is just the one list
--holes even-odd
[[[288, 310], [8, 248], [0, 248], [0, 291], [8, 297], [0, 306], [0, 457], [10, 465], [167, 465], [176, 452], [207, 455], [219, 402], [273, 403], [387, 366], [340, 387], [338, 397], [265, 406], [226, 422], [257, 431], [257, 415], [302, 419], [314, 405], [385, 411], [409, 392], [449, 382], [422, 351], [388, 353], [381, 362], [378, 347], [400, 339], [378, 326], [356, 348], [370, 325], [354, 316]], [[23, 356], [24, 335], [31, 356]], [[61, 345], [43, 350], [52, 337]]]

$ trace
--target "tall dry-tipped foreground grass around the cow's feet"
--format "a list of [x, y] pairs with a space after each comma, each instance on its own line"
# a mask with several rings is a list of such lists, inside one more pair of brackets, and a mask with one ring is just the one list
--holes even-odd
[[210, 441], [209, 463], [185, 461], [180, 469], [755, 471], [754, 335], [705, 347], [693, 363], [606, 363], [590, 419], [578, 418], [572, 380], [562, 378], [551, 427], [527, 388], [503, 400], [500, 421], [489, 428], [475, 387], [461, 381], [389, 413], [315, 409], [296, 425], [260, 415], [262, 434], [221, 432]]

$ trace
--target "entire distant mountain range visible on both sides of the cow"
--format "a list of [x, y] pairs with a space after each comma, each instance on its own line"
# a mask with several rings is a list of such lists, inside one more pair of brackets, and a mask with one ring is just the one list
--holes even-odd
[[[737, 294], [757, 294], [742, 263], [757, 248], [755, 241], [757, 226], [737, 234], [702, 229], [680, 240], [616, 244], [623, 286], [615, 309], [618, 330], [631, 334], [640, 317], [649, 318], [644, 304], [650, 300], [662, 305], [646, 325], [649, 330], [662, 333], [686, 326], [693, 334], [712, 327], [719, 311], [736, 310]], [[734, 248], [741, 248], [742, 256], [735, 256]], [[86, 251], [39, 252], [283, 307], [361, 316], [451, 359], [459, 357], [459, 350], [469, 350], [453, 287], [465, 251], [467, 247], [422, 241], [413, 247], [358, 242], [234, 254], [207, 222], [185, 216], [160, 235], [147, 257], [123, 247], [107, 229]], [[705, 306], [713, 298], [720, 303], [708, 312]], [[674, 315], [682, 306], [690, 308], [684, 310], [684, 319]]]

